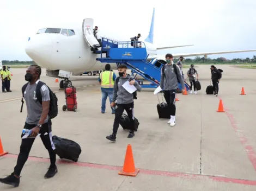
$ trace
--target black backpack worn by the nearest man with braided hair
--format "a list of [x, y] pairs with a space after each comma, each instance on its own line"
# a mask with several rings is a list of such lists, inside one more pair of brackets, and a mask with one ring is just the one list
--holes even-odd
[[[23, 104], [24, 104], [24, 101], [23, 101], [24, 92], [25, 92], [25, 90], [28, 86], [28, 83], [29, 82], [27, 82], [27, 84], [23, 85], [23, 87], [21, 88], [21, 91], [22, 91], [21, 112], [22, 112]], [[36, 88], [35, 88], [35, 95], [36, 95], [36, 98], [37, 98], [36, 101], [39, 101], [40, 104], [42, 104], [41, 87], [44, 84], [45, 84], [44, 82], [39, 81], [38, 84], [36, 85]], [[52, 90], [49, 87], [48, 87], [48, 89], [50, 91], [50, 108], [49, 108], [48, 116], [50, 117], [50, 119], [53, 119], [54, 117], [58, 116], [58, 98], [56, 97], [56, 94], [53, 93]]]

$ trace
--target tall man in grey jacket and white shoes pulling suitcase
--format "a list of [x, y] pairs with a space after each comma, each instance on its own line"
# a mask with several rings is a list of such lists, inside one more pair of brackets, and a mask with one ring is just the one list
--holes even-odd
[[176, 114], [175, 98], [176, 90], [178, 88], [178, 79], [182, 86], [182, 93], [184, 92], [185, 86], [180, 69], [173, 63], [172, 54], [166, 54], [166, 62], [167, 64], [164, 65], [161, 70], [160, 87], [163, 91], [169, 110], [170, 120], [168, 121], [168, 124], [174, 126]]

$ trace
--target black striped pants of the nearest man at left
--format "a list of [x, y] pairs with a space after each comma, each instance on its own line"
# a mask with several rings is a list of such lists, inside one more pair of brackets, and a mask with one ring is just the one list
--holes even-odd
[[[36, 125], [30, 125], [25, 123], [24, 129], [33, 129]], [[56, 163], [56, 154], [53, 151], [55, 149], [52, 142], [52, 131], [51, 131], [51, 120], [48, 123], [42, 125], [39, 133], [42, 143], [45, 145], [45, 148], [48, 150], [50, 155], [51, 166], [54, 167]], [[47, 135], [45, 133], [47, 132]], [[23, 137], [23, 135], [21, 135]], [[32, 145], [35, 141], [35, 138], [25, 138], [21, 139], [20, 154], [17, 159], [17, 164], [14, 167], [14, 174], [20, 176], [21, 170], [28, 159], [29, 152], [31, 151]]]

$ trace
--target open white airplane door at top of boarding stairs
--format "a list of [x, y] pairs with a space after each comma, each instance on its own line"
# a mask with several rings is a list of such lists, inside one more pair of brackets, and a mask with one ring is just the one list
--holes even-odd
[[85, 18], [83, 20], [83, 36], [90, 47], [99, 48], [100, 43], [93, 35], [93, 22], [92, 18]]

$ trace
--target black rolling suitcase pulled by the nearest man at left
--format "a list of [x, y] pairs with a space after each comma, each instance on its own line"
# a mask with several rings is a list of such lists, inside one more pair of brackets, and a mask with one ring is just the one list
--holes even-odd
[[54, 152], [60, 158], [66, 158], [74, 162], [78, 161], [82, 152], [79, 144], [66, 138], [57, 137], [56, 135], [52, 136], [52, 142], [55, 146]]

